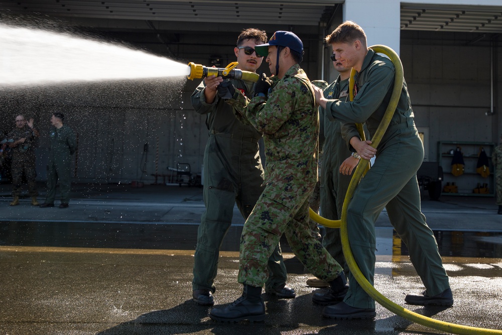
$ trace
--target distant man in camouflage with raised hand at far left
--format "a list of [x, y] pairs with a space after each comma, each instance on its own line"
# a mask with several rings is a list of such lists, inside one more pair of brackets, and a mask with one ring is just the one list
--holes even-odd
[[30, 119], [30, 122], [26, 122], [23, 115], [18, 115], [16, 117], [16, 128], [7, 136], [7, 143], [9, 143], [12, 153], [12, 195], [14, 196], [14, 200], [10, 203], [11, 206], [19, 205], [23, 174], [28, 183], [28, 192], [32, 198], [31, 204], [34, 206], [39, 205], [37, 201], [37, 183], [35, 182], [37, 172], [35, 170], [34, 150], [37, 137], [40, 137], [40, 133], [33, 127], [33, 119]]

